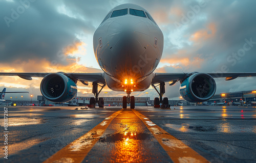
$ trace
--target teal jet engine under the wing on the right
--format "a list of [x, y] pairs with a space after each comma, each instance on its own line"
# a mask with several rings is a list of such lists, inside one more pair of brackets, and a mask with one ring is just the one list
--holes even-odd
[[216, 92], [214, 78], [206, 73], [195, 73], [184, 80], [180, 86], [180, 95], [188, 102], [204, 102]]

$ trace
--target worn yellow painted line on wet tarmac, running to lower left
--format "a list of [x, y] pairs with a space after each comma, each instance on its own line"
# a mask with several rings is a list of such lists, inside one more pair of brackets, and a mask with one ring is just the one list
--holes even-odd
[[111, 121], [122, 111], [123, 108], [120, 111], [113, 113], [108, 118], [105, 118], [89, 132], [62, 148], [44, 162], [81, 162], [98, 142]]

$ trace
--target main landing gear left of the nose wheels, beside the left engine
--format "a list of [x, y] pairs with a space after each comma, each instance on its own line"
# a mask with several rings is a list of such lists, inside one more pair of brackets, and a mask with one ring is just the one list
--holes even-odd
[[[99, 92], [98, 92], [98, 86], [101, 87]], [[99, 104], [99, 107], [104, 107], [104, 99], [103, 99], [103, 97], [98, 98], [98, 96], [99, 96], [99, 93], [101, 92], [101, 90], [105, 86], [106, 86], [105, 84], [103, 84], [101, 86], [98, 83], [93, 82], [93, 94], [94, 94], [95, 98], [94, 97], [90, 98], [90, 107], [95, 107], [96, 103]]]

